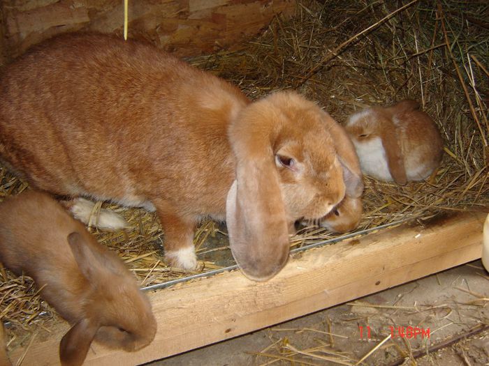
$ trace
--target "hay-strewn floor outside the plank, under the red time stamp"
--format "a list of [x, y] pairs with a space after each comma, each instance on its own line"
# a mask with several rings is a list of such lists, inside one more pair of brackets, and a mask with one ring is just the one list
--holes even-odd
[[[474, 268], [483, 270], [478, 266]], [[418, 303], [416, 300], [423, 291], [431, 289], [429, 279], [424, 279], [421, 280], [424, 284], [416, 282], [391, 289], [388, 293], [372, 294], [296, 322], [298, 326], [306, 323], [307, 328], [284, 327], [290, 323], [269, 328], [270, 345], [262, 351], [249, 353], [256, 356], [254, 364], [261, 366], [418, 365], [418, 358], [432, 357], [439, 349], [458, 344], [467, 337], [481, 335], [481, 339], [487, 340], [489, 319], [483, 309], [486, 299], [481, 293], [468, 290], [475, 284], [464, 274], [444, 278], [449, 279], [448, 286], [435, 285], [441, 291], [439, 298], [421, 297], [423, 301], [428, 299], [433, 303]], [[454, 297], [447, 287], [463, 293]], [[484, 289], [481, 284], [478, 288]], [[396, 330], [397, 327], [404, 328], [402, 333]], [[481, 353], [485, 353], [483, 349]], [[325, 356], [335, 358], [324, 362]], [[474, 365], [485, 365], [488, 357], [488, 354], [482, 354], [479, 363]], [[447, 363], [442, 358], [438, 363], [423, 363], [428, 364]]]

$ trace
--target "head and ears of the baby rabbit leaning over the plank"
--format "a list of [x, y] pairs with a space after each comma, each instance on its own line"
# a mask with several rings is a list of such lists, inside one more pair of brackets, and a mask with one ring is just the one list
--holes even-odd
[[80, 272], [87, 280], [80, 298], [83, 316], [60, 343], [61, 363], [78, 365], [92, 340], [111, 348], [136, 351], [154, 339], [156, 320], [145, 294], [117, 255], [91, 245], [89, 234], [73, 232], [68, 243]]

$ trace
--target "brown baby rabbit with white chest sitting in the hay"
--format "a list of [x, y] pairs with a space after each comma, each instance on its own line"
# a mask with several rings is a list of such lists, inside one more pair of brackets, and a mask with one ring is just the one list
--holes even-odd
[[355, 113], [346, 131], [362, 171], [381, 181], [422, 181], [441, 162], [443, 141], [437, 125], [414, 100]]

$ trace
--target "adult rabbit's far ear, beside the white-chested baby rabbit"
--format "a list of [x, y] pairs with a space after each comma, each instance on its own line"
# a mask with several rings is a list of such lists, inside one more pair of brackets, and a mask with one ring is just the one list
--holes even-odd
[[358, 198], [363, 193], [363, 180], [355, 146], [353, 146], [353, 142], [351, 142], [342, 125], [337, 123], [328, 113], [322, 112], [323, 121], [326, 123], [326, 128], [333, 139], [338, 160], [340, 160], [343, 168], [346, 195], [352, 198]]

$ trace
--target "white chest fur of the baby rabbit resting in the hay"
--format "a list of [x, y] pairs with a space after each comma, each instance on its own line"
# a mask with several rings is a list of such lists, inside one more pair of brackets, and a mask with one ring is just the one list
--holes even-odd
[[382, 146], [380, 137], [361, 143], [353, 141], [353, 144], [363, 173], [382, 181], [393, 181], [387, 165], [386, 151]]

